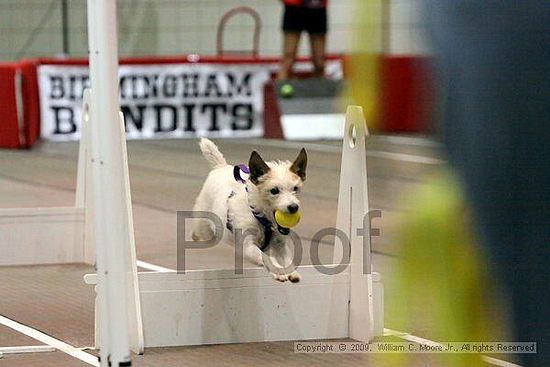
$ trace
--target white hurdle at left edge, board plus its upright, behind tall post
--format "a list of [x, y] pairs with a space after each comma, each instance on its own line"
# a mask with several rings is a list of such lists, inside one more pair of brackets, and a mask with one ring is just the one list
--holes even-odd
[[80, 144], [74, 206], [0, 209], [0, 266], [95, 264], [88, 148]]

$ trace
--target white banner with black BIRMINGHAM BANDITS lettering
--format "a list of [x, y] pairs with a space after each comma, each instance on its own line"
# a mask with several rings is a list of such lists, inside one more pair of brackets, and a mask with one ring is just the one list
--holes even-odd
[[[266, 65], [121, 65], [120, 105], [128, 138], [263, 136]], [[88, 67], [41, 65], [40, 135], [80, 137]]]

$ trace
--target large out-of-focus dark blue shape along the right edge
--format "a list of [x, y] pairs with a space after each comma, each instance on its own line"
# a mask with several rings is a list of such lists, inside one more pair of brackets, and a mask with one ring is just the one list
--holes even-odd
[[426, 0], [449, 161], [510, 301], [525, 366], [550, 366], [548, 1]]

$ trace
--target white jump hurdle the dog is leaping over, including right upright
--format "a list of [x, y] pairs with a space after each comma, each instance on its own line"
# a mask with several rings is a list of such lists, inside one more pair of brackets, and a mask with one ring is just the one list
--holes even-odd
[[[243, 274], [232, 269], [140, 272], [135, 299], [141, 302], [143, 330], [130, 320], [130, 339], [143, 335], [145, 347], [162, 347], [348, 337], [369, 342], [383, 335], [383, 286], [380, 276], [370, 273], [370, 263], [363, 274], [363, 251], [370, 262], [370, 243], [365, 247], [357, 235], [368, 210], [367, 131], [360, 107], [348, 108], [346, 132], [337, 226], [351, 239], [351, 266], [337, 275], [301, 266], [298, 284], [278, 283], [262, 268]], [[350, 192], [362, 194], [350, 200]], [[338, 254], [335, 258], [340, 261]], [[95, 284], [95, 274], [85, 281]], [[96, 343], [100, 333], [96, 322]]]

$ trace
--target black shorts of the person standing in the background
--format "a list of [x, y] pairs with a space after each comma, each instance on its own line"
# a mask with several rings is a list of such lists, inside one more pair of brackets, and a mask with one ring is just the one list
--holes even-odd
[[327, 33], [327, 9], [309, 9], [300, 6], [285, 6], [283, 31], [310, 34]]

